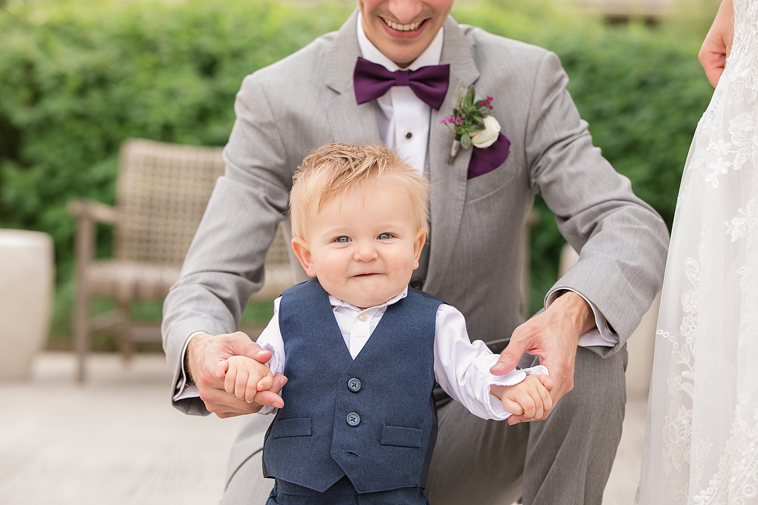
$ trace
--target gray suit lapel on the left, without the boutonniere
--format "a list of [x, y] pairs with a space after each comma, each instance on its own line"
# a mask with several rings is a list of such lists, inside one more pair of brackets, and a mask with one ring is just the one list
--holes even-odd
[[334, 100], [326, 104], [326, 117], [333, 142], [381, 144], [381, 134], [375, 114], [376, 101], [356, 104], [352, 88], [352, 71], [361, 55], [356, 34], [358, 9], [337, 32], [329, 62], [326, 85], [337, 92]]

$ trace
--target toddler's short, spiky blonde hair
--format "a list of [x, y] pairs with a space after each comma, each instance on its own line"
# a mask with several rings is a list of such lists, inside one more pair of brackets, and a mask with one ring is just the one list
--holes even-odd
[[367, 192], [393, 182], [408, 190], [418, 228], [428, 232], [429, 182], [384, 145], [327, 144], [305, 157], [293, 177], [290, 220], [293, 237], [302, 237], [309, 216], [354, 189]]

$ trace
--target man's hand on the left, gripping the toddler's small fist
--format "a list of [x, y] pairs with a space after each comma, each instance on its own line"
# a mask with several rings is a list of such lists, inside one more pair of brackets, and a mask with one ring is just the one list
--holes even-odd
[[246, 356], [258, 363], [268, 363], [271, 353], [262, 348], [243, 332], [224, 335], [199, 333], [187, 344], [186, 366], [190, 379], [200, 392], [205, 408], [221, 419], [256, 413], [264, 405], [275, 407], [281, 403], [279, 391], [287, 383], [287, 378], [277, 373], [271, 389], [258, 391], [253, 403], [240, 400], [224, 388], [224, 380], [216, 376], [216, 366], [232, 356]]

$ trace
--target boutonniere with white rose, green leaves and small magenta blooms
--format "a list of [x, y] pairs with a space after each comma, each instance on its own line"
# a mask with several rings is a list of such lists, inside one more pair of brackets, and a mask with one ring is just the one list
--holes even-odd
[[473, 145], [475, 148], [486, 149], [493, 145], [500, 135], [500, 123], [494, 116], [489, 115], [492, 111], [492, 97], [475, 96], [473, 85], [468, 86], [465, 95], [461, 95], [459, 83], [453, 115], [440, 121], [441, 124], [447, 125], [455, 136], [447, 164], [453, 163], [453, 158], [460, 148], [468, 149]]

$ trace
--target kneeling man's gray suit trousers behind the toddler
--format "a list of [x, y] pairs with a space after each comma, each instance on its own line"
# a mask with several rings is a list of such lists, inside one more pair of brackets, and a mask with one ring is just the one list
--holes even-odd
[[[525, 355], [523, 366], [534, 358]], [[574, 389], [545, 421], [508, 426], [468, 413], [457, 401], [439, 411], [427, 495], [432, 505], [600, 505], [621, 440], [626, 345], [607, 358], [578, 348]], [[261, 416], [260, 441], [271, 417]], [[263, 505], [262, 450], [236, 470], [222, 505]]]

